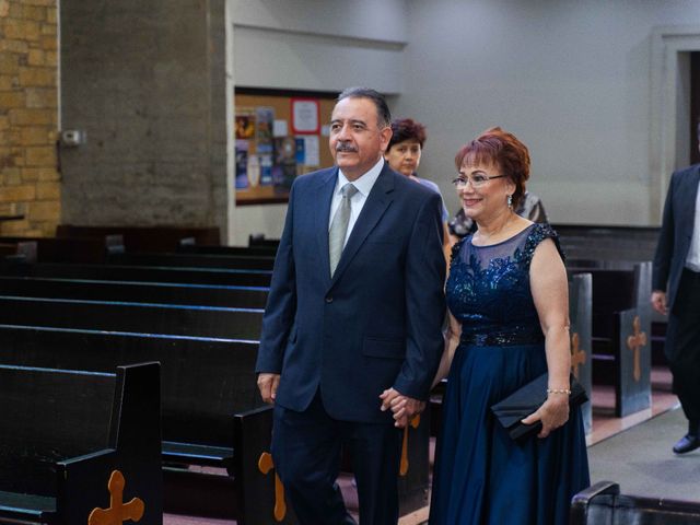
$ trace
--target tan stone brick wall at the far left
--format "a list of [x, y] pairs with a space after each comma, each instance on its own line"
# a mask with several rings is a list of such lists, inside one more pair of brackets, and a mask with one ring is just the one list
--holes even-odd
[[0, 0], [0, 222], [3, 235], [52, 235], [60, 219], [57, 170], [56, 0]]

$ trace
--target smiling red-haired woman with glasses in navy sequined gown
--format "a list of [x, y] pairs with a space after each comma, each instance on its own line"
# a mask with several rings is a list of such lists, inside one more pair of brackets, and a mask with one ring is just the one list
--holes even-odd
[[[556, 232], [514, 213], [529, 176], [527, 148], [500, 128], [464, 145], [454, 184], [478, 230], [453, 248], [447, 374], [431, 525], [565, 524], [590, 485], [583, 422], [569, 406], [567, 273]], [[548, 372], [545, 404], [514, 442], [490, 411]]]

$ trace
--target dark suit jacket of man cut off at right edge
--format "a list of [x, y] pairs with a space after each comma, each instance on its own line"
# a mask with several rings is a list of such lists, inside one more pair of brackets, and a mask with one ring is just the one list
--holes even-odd
[[699, 182], [700, 164], [695, 164], [675, 172], [668, 185], [652, 272], [653, 289], [667, 291], [668, 310], [674, 307], [690, 249]]

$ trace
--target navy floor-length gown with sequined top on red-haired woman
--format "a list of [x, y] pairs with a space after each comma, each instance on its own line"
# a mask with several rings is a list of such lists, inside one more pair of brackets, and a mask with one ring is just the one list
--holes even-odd
[[588, 487], [583, 421], [520, 445], [489, 407], [547, 372], [529, 288], [537, 245], [557, 234], [533, 224], [492, 246], [465, 237], [453, 250], [446, 294], [462, 323], [443, 400], [430, 525], [564, 525], [571, 498]]

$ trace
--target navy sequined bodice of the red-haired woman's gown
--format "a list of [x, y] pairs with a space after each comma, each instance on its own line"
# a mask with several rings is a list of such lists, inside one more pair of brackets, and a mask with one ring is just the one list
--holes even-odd
[[529, 264], [548, 224], [532, 224], [499, 244], [455, 245], [447, 279], [447, 305], [462, 322], [463, 341], [476, 345], [535, 343], [544, 339], [529, 288]]

